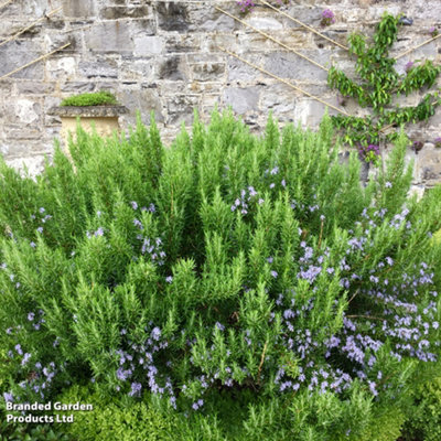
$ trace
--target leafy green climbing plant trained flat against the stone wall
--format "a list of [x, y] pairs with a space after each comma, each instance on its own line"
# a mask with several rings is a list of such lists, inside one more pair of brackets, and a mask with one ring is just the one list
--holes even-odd
[[356, 56], [358, 83], [335, 66], [329, 71], [330, 87], [340, 90], [344, 98], [353, 97], [362, 107], [372, 108], [372, 114], [363, 117], [332, 117], [344, 141], [357, 146], [367, 162], [378, 162], [380, 140], [392, 141], [398, 136], [396, 131], [386, 135], [386, 128], [428, 120], [441, 104], [438, 92], [428, 92], [417, 106], [392, 107], [395, 97], [432, 87], [441, 72], [441, 66], [426, 60], [409, 62], [405, 74], [398, 74], [389, 50], [397, 40], [399, 26], [400, 17], [385, 13], [370, 43], [358, 33], [349, 36], [349, 53]]

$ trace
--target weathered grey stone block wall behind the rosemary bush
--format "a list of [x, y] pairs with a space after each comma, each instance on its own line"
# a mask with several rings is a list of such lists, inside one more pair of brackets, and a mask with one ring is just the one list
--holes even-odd
[[[230, 105], [256, 130], [265, 125], [269, 110], [282, 123], [316, 126], [325, 109], [322, 104], [218, 46], [336, 105], [326, 73], [226, 17], [215, 4], [239, 15], [235, 1], [222, 0], [14, 0], [0, 10], [0, 43], [44, 13], [58, 7], [62, 11], [0, 46], [0, 76], [66, 42], [71, 45], [0, 80], [0, 152], [10, 164], [20, 166], [24, 161], [31, 172], [37, 172], [60, 133], [60, 120], [47, 115], [49, 108], [74, 93], [101, 88], [114, 92], [130, 109], [121, 118], [123, 127], [135, 121], [137, 109], [146, 122], [154, 110], [166, 140], [181, 123], [192, 122], [194, 108], [207, 119], [215, 105]], [[330, 8], [336, 22], [322, 32], [341, 43], [353, 31], [372, 35], [384, 11], [405, 13], [413, 24], [401, 28], [392, 54], [424, 41], [429, 28], [441, 24], [439, 0], [291, 0], [282, 8], [315, 29], [321, 29], [321, 13]], [[335, 63], [346, 73], [354, 72], [344, 50], [263, 6], [245, 20], [322, 65]], [[440, 52], [441, 39], [402, 57], [397, 69], [402, 72], [408, 61], [420, 57], [440, 62]], [[416, 104], [418, 96], [407, 101]], [[348, 101], [345, 109], [361, 115], [355, 103]], [[431, 143], [441, 136], [440, 121], [441, 110], [428, 123], [409, 128], [411, 138], [426, 142], [418, 155], [409, 151], [409, 158], [416, 159], [417, 186], [441, 181], [441, 149]]]

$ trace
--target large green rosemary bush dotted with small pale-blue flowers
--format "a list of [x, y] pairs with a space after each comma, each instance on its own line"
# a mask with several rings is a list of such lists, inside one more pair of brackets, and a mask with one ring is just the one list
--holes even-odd
[[57, 150], [36, 182], [1, 163], [4, 399], [85, 380], [186, 412], [244, 395], [249, 435], [287, 400], [289, 439], [391, 440], [375, 419], [396, 434], [440, 352], [441, 189], [407, 198], [402, 135], [366, 187], [332, 140], [327, 117], [256, 138], [214, 112], [170, 149], [154, 123], [78, 131], [75, 166]]

